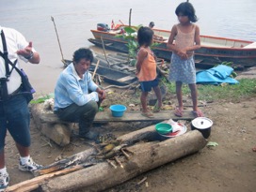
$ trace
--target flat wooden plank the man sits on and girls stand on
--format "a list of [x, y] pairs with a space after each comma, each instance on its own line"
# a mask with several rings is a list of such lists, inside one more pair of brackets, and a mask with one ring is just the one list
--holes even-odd
[[[160, 111], [153, 113], [153, 118], [144, 117], [140, 112], [124, 112], [122, 117], [113, 117], [110, 111], [98, 112], [95, 116], [94, 123], [107, 122], [161, 122], [168, 119], [173, 120], [192, 120], [195, 117], [191, 111], [184, 111], [183, 117], [176, 117], [173, 111]], [[61, 121], [54, 113], [45, 113], [40, 115], [41, 123], [67, 123]]]

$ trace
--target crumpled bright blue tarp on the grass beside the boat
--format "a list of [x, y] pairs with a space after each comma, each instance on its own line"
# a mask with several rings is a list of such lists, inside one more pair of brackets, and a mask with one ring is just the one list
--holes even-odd
[[220, 84], [223, 82], [229, 84], [236, 84], [236, 81], [229, 77], [232, 74], [233, 68], [231, 66], [218, 65], [213, 68], [198, 71], [196, 80], [198, 84]]

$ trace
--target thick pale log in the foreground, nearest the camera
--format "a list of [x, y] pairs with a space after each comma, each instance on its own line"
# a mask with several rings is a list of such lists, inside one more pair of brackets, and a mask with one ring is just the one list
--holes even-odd
[[134, 155], [123, 162], [123, 169], [113, 169], [108, 163], [99, 163], [88, 169], [77, 170], [70, 174], [52, 178], [41, 186], [42, 191], [102, 191], [119, 185], [147, 170], [152, 170], [185, 155], [194, 154], [206, 145], [199, 131], [190, 131], [183, 136], [153, 144], [140, 143], [129, 147]]

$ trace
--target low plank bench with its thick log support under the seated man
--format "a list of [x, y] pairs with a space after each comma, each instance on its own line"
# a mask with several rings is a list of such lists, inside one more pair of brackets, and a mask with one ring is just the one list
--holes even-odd
[[[34, 104], [30, 108], [33, 120], [40, 132], [47, 138], [54, 140], [56, 144], [65, 146], [70, 143], [73, 123], [60, 120], [53, 111], [44, 111], [42, 104]], [[160, 111], [154, 113], [154, 118], [147, 118], [139, 111], [124, 112], [122, 117], [113, 117], [111, 111], [102, 111], [96, 114], [94, 123], [105, 124], [108, 122], [153, 122], [159, 123], [168, 119], [192, 120], [191, 111], [184, 111], [183, 117], [176, 117], [173, 111]]]

